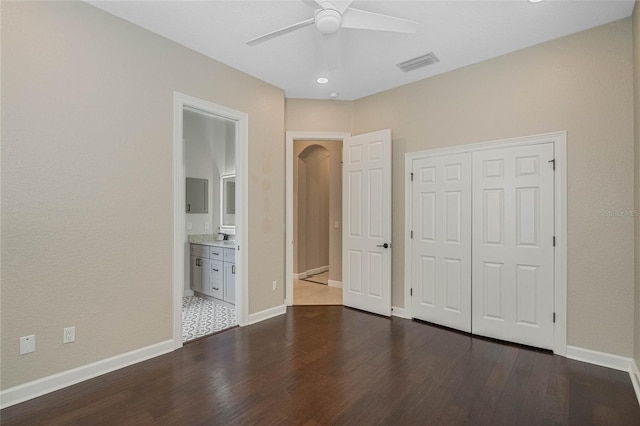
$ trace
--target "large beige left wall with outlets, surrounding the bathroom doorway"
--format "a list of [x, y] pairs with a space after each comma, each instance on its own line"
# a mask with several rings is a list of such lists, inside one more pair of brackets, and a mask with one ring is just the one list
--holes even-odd
[[249, 312], [281, 305], [283, 92], [85, 3], [1, 7], [2, 389], [172, 337], [174, 91], [249, 114]]

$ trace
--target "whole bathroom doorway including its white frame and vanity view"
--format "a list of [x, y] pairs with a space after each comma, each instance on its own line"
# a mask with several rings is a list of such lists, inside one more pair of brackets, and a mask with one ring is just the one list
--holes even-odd
[[248, 322], [247, 134], [247, 114], [174, 94], [176, 348]]

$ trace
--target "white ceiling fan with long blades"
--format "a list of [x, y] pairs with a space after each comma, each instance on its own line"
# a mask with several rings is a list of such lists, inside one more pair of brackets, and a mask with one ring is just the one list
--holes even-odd
[[355, 9], [351, 6], [353, 0], [301, 0], [315, 10], [314, 17], [280, 28], [247, 42], [249, 46], [256, 46], [284, 34], [315, 25], [324, 36], [324, 50], [329, 69], [337, 68], [339, 62], [339, 48], [337, 32], [340, 28], [356, 30], [390, 31], [396, 33], [414, 34], [418, 23], [394, 16], [382, 15]]

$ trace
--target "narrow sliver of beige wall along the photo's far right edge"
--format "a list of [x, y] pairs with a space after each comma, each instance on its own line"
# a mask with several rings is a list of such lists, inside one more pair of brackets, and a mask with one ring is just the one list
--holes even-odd
[[[640, 0], [633, 9], [633, 99], [635, 138], [635, 210], [640, 212]], [[635, 217], [635, 348], [640, 366], [640, 217]]]

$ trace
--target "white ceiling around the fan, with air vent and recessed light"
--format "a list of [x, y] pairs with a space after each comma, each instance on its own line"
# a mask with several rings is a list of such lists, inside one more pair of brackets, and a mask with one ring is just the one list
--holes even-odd
[[[306, 27], [255, 47], [255, 37], [313, 17], [299, 0], [89, 1], [92, 5], [284, 89], [287, 98], [352, 100], [631, 16], [633, 0], [354, 1], [420, 23], [413, 35], [339, 30], [340, 69], [328, 71], [322, 35]], [[434, 52], [439, 63], [395, 64]], [[318, 76], [329, 83], [319, 85]]]

